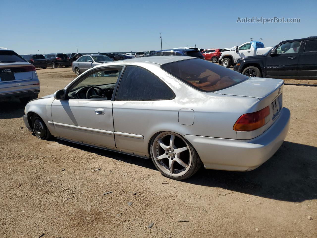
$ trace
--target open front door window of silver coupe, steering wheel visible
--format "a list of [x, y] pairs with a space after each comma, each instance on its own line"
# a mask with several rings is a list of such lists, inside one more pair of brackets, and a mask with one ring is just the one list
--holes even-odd
[[[122, 67], [95, 70], [71, 85], [68, 89], [68, 97], [70, 99], [111, 100], [115, 84], [118, 81], [121, 71]], [[98, 88], [89, 89], [94, 86]]]

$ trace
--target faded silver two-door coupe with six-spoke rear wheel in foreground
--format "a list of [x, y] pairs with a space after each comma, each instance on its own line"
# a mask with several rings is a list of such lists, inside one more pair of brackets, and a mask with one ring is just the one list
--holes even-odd
[[142, 57], [88, 69], [30, 101], [23, 120], [40, 139], [151, 158], [181, 180], [202, 164], [248, 171], [267, 161], [288, 132], [283, 86], [193, 57]]

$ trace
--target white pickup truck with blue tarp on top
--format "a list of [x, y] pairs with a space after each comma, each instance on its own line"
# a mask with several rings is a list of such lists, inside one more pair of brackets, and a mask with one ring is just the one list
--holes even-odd
[[231, 65], [236, 65], [239, 58], [246, 56], [263, 55], [272, 47], [264, 47], [264, 44], [259, 41], [246, 42], [238, 47], [233, 47], [230, 51], [222, 52], [219, 58], [219, 64], [223, 67], [230, 68]]

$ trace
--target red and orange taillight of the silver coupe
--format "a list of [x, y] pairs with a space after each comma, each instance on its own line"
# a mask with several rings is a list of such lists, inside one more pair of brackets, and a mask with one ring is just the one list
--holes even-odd
[[260, 111], [243, 114], [236, 121], [233, 129], [235, 131], [252, 131], [259, 129], [269, 122], [270, 107], [267, 106]]

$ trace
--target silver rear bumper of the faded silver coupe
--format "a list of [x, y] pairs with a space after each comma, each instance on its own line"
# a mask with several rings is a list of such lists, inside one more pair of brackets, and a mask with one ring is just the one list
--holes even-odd
[[250, 140], [184, 136], [196, 149], [206, 169], [248, 171], [266, 162], [280, 148], [288, 132], [290, 111], [283, 108], [276, 122]]

